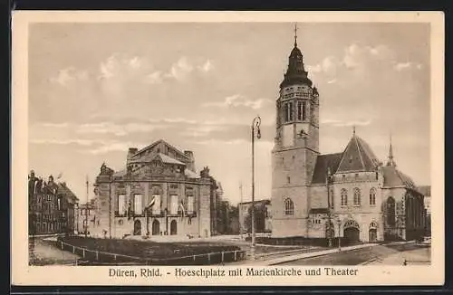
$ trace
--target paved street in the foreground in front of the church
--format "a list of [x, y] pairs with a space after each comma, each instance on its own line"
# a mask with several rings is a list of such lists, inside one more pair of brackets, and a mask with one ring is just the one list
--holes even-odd
[[328, 255], [304, 258], [279, 265], [403, 265], [430, 261], [430, 247], [415, 243], [375, 245], [352, 251], [335, 252]]

